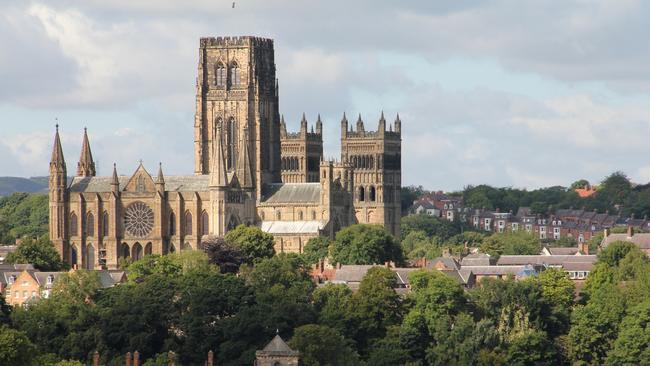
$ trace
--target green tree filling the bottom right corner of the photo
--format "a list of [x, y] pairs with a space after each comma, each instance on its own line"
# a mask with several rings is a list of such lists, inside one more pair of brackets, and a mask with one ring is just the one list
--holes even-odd
[[650, 300], [632, 308], [621, 322], [607, 365], [650, 365]]

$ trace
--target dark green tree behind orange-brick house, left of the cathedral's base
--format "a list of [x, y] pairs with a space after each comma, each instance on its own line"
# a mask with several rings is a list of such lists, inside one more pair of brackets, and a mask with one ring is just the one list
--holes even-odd
[[66, 267], [47, 236], [42, 236], [37, 240], [26, 238], [18, 245], [15, 252], [7, 255], [6, 262], [30, 263], [41, 271], [59, 271]]

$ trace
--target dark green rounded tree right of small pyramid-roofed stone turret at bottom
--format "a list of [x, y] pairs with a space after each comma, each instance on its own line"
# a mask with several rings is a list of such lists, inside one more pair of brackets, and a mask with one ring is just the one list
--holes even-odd
[[359, 355], [350, 342], [336, 330], [316, 324], [297, 328], [289, 346], [300, 351], [300, 364], [304, 366], [358, 365]]

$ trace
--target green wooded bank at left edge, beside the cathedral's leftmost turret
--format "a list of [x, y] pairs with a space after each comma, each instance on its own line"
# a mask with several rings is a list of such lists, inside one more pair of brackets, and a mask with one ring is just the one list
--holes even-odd
[[47, 234], [48, 196], [14, 193], [0, 197], [0, 244]]

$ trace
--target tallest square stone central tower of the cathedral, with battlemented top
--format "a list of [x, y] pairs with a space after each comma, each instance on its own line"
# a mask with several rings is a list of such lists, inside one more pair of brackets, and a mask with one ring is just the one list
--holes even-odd
[[[278, 183], [280, 114], [273, 40], [258, 37], [201, 38], [194, 122], [195, 174], [214, 166], [221, 139], [224, 169], [241, 178], [252, 172], [257, 201], [262, 186]], [[243, 147], [250, 158], [242, 158]]]

